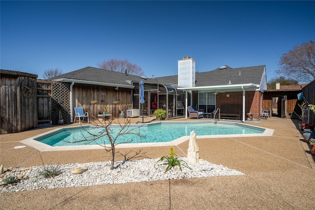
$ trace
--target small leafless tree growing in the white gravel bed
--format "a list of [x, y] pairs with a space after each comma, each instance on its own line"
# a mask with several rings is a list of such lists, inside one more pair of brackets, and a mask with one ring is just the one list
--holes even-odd
[[[126, 152], [125, 154], [123, 154], [119, 151], [116, 152], [116, 150], [115, 150], [115, 147], [117, 145], [131, 143], [133, 141], [133, 140], [129, 140], [129, 141], [125, 141], [125, 142], [117, 142], [117, 139], [119, 137], [125, 137], [127, 135], [135, 135], [135, 136], [139, 136], [140, 140], [141, 140], [141, 137], [143, 137], [142, 135], [140, 135], [140, 127], [141, 126], [131, 127], [130, 126], [130, 119], [124, 119], [124, 123], [121, 123], [118, 120], [119, 121], [119, 131], [117, 134], [113, 134], [112, 128], [111, 128], [111, 124], [113, 122], [113, 119], [108, 120], [108, 123], [107, 123], [107, 120], [105, 118], [103, 118], [103, 120], [104, 120], [104, 124], [103, 124], [98, 119], [96, 119], [94, 116], [93, 116], [93, 118], [95, 120], [93, 122], [91, 122], [90, 124], [95, 125], [95, 128], [97, 128], [97, 129], [101, 128], [101, 131], [99, 131], [95, 134], [95, 132], [93, 132], [93, 130], [95, 130], [95, 128], [87, 129], [87, 128], [83, 127], [83, 129], [88, 133], [88, 135], [84, 135], [81, 132], [84, 139], [74, 140], [73, 142], [69, 142], [69, 141], [65, 141], [65, 140], [64, 141], [67, 143], [80, 143], [80, 142], [91, 143], [91, 142], [95, 142], [97, 145], [104, 147], [107, 152], [111, 152], [110, 170], [113, 170], [115, 168], [114, 164], [115, 164], [115, 154], [116, 153], [123, 155], [125, 157], [125, 161], [130, 160], [131, 158], [134, 158], [134, 157], [147, 157], [146, 153], [142, 152], [142, 150], [138, 150], [138, 151], [130, 150], [130, 151]], [[101, 138], [103, 138], [103, 139], [107, 138], [110, 142], [110, 146], [107, 146], [105, 144], [105, 140], [103, 140], [102, 144], [98, 143], [97, 140], [99, 140]], [[134, 154], [132, 156], [128, 156], [131, 151], [134, 152]]]

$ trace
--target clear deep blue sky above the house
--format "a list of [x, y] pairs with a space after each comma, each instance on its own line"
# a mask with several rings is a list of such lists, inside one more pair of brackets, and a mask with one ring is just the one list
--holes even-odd
[[315, 1], [0, 1], [0, 68], [63, 73], [112, 58], [147, 77], [266, 65], [315, 40]]

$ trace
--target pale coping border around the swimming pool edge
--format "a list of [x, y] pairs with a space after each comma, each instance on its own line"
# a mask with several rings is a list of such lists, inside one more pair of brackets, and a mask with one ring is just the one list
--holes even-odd
[[[190, 123], [191, 121], [176, 121], [176, 122], [171, 122], [171, 123]], [[206, 121], [204, 123], [209, 123], [210, 121]], [[152, 122], [150, 124], [141, 124], [142, 126], [148, 126], [152, 125], [155, 123], [165, 123], [165, 122]], [[167, 122], [166, 122], [167, 123]], [[222, 124], [240, 124], [240, 125], [248, 125], [240, 122], [220, 122]], [[113, 125], [119, 125], [119, 124], [113, 124]], [[132, 126], [139, 126], [137, 123], [130, 124]], [[84, 125], [84, 126], [89, 126], [89, 125]], [[93, 125], [91, 125], [93, 126]], [[263, 133], [258, 133], [258, 134], [228, 134], [228, 135], [201, 135], [197, 136], [197, 139], [211, 139], [211, 138], [233, 138], [233, 137], [261, 137], [261, 136], [272, 136], [274, 129], [270, 128], [264, 128], [264, 127], [259, 127], [255, 125], [248, 125], [250, 127], [256, 127], [259, 129], [264, 129]], [[33, 136], [31, 138], [25, 139], [20, 141], [21, 143], [28, 145], [36, 150], [39, 151], [64, 151], [64, 150], [95, 150], [95, 149], [104, 149], [103, 146], [100, 145], [79, 145], [79, 146], [58, 146], [58, 147], [53, 147], [44, 143], [41, 143], [37, 140], [36, 138], [39, 138], [43, 135], [48, 135], [53, 132], [57, 132], [61, 129], [64, 128], [75, 128], [75, 127], [82, 127], [82, 126], [70, 126], [70, 127], [63, 127], [63, 128], [57, 128], [36, 136]], [[177, 146], [179, 144], [182, 144], [183, 142], [186, 142], [189, 140], [189, 136], [182, 136], [178, 139], [175, 139], [171, 142], [159, 142], [159, 143], [129, 143], [129, 144], [118, 144], [115, 146], [115, 148], [139, 148], [139, 147], [165, 147], [165, 146]]]

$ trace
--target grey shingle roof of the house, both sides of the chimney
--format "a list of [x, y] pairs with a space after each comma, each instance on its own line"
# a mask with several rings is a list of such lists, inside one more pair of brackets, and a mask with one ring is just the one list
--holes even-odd
[[[208, 72], [196, 72], [196, 86], [220, 86], [227, 85], [229, 81], [231, 84], [260, 84], [261, 78], [265, 69], [265, 65], [231, 68], [226, 66], [225, 69], [217, 68]], [[178, 75], [146, 78], [143, 79], [140, 76], [126, 75], [125, 73], [104, 70], [95, 67], [85, 67], [76, 71], [62, 74], [60, 76], [51, 78], [55, 79], [77, 79], [94, 82], [106, 82], [112, 84], [130, 85], [126, 81], [140, 81], [150, 83], [162, 83], [162, 84], [177, 84]]]

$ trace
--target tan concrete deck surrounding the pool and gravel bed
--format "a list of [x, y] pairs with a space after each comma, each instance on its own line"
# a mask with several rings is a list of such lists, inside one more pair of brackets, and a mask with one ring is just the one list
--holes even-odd
[[[315, 156], [297, 129], [298, 120], [272, 117], [260, 121], [259, 127], [274, 129], [272, 136], [197, 138], [200, 158], [245, 173], [244, 176], [1, 193], [0, 209], [314, 209]], [[78, 123], [66, 126], [74, 125]], [[56, 127], [0, 135], [0, 164], [8, 168], [42, 165], [41, 158], [45, 164], [109, 159], [105, 150], [39, 151], [30, 146], [14, 149], [24, 146], [22, 140], [53, 129]], [[158, 158], [168, 155], [169, 146], [139, 149], [148, 157]], [[186, 156], [188, 141], [174, 149], [178, 156]], [[117, 155], [116, 159], [122, 157]]]

